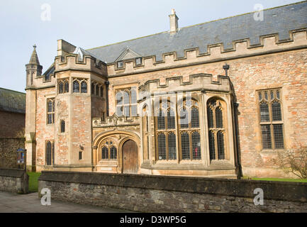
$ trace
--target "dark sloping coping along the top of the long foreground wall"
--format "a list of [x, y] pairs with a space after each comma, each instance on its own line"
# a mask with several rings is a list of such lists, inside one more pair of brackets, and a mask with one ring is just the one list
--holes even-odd
[[246, 198], [254, 198], [254, 190], [260, 188], [264, 191], [264, 199], [307, 203], [307, 184], [300, 182], [62, 171], [43, 171], [38, 181], [98, 184]]

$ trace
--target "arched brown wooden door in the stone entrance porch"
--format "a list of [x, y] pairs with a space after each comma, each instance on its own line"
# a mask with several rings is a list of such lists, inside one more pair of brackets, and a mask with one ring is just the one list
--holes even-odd
[[138, 173], [138, 145], [133, 140], [123, 144], [123, 173]]

